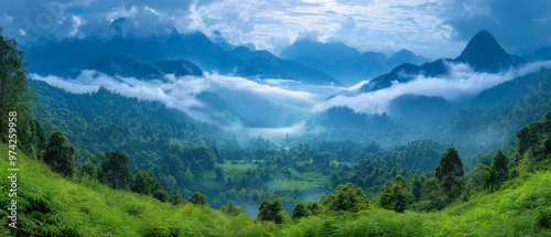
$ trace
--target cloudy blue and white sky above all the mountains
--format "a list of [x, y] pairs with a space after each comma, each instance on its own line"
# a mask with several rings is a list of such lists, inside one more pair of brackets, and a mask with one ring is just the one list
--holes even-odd
[[39, 36], [109, 37], [112, 21], [126, 35], [147, 37], [218, 30], [233, 44], [279, 54], [296, 39], [342, 41], [359, 51], [406, 47], [430, 58], [457, 56], [488, 30], [510, 53], [551, 46], [548, 0], [1, 0], [0, 26], [20, 42]]

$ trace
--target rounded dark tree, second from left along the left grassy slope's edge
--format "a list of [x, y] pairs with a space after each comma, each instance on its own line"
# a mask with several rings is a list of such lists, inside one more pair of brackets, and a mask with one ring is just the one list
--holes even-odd
[[130, 166], [128, 165], [128, 155], [116, 151], [108, 151], [105, 155], [100, 155], [102, 160], [100, 165], [100, 181], [109, 184], [114, 190], [125, 190], [130, 183]]

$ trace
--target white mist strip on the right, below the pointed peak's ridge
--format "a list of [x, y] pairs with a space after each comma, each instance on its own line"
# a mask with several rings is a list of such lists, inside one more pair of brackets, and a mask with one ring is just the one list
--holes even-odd
[[[382, 114], [387, 111], [390, 101], [403, 95], [437, 96], [457, 101], [465, 97], [475, 96], [499, 83], [536, 72], [541, 66], [550, 67], [551, 61], [531, 63], [521, 68], [498, 74], [477, 73], [467, 64], [449, 64], [447, 66], [450, 73], [446, 76], [417, 76], [417, 78], [408, 83], [393, 83], [391, 87], [364, 93], [355, 97], [339, 95], [316, 105], [314, 111], [323, 111], [333, 106], [347, 106], [358, 112]], [[355, 88], [358, 88], [358, 85]]]

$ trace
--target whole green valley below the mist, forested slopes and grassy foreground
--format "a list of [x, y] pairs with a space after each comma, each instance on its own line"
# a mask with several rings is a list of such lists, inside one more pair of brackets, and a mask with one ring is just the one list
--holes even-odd
[[1, 180], [6, 236], [551, 235], [547, 68], [425, 125], [334, 107], [311, 120], [326, 132], [244, 139], [29, 78], [0, 40], [0, 166], [21, 170], [18, 228]]

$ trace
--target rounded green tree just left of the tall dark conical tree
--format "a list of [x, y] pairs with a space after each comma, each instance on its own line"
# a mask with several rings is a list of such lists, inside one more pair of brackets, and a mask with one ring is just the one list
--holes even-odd
[[379, 203], [382, 208], [392, 209], [399, 213], [406, 211], [415, 197], [408, 192], [406, 179], [398, 174], [393, 181], [387, 181], [382, 193], [379, 196]]

